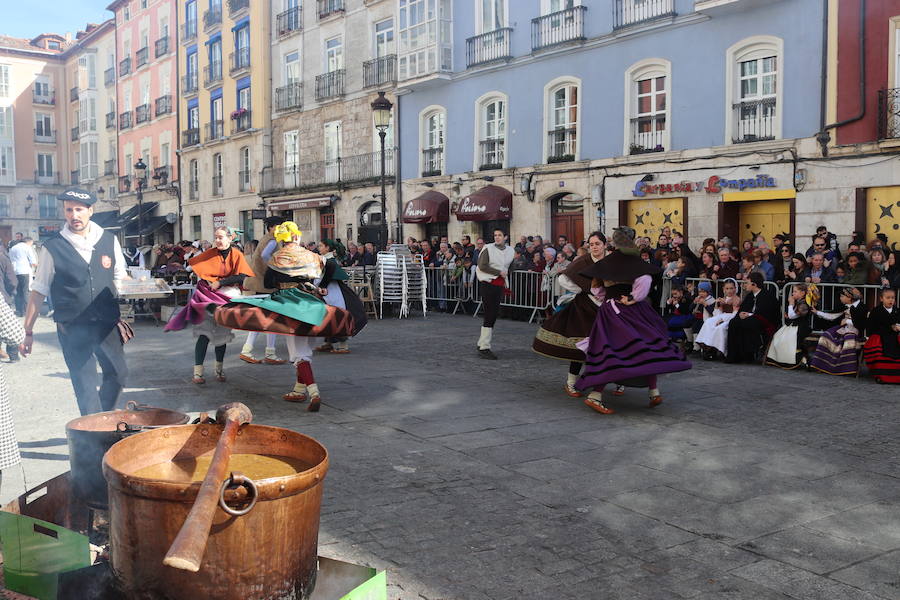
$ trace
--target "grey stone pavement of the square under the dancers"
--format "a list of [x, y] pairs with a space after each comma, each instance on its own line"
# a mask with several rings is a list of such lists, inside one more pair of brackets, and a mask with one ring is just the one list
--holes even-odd
[[[898, 388], [695, 362], [657, 409], [629, 390], [603, 416], [531, 352], [535, 326], [501, 321], [496, 362], [476, 356], [479, 326], [371, 323], [352, 354], [316, 357], [312, 414], [280, 399], [290, 367], [237, 359], [243, 336], [228, 383], [194, 386], [191, 334], [142, 323], [123, 401], [240, 400], [319, 439], [320, 553], [387, 569], [390, 598], [900, 598]], [[46, 319], [36, 340], [3, 366], [29, 484], [68, 468], [77, 416]], [[4, 502], [23, 489], [8, 471]]]

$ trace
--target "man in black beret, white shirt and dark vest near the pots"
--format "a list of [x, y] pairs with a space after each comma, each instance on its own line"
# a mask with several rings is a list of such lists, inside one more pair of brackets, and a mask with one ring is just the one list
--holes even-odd
[[[116, 283], [127, 278], [119, 240], [91, 222], [97, 197], [82, 189], [57, 196], [66, 226], [44, 243], [25, 311], [23, 356], [31, 354], [32, 328], [52, 294], [59, 344], [82, 415], [113, 410], [128, 375], [119, 334]], [[97, 389], [97, 362], [103, 381]]]

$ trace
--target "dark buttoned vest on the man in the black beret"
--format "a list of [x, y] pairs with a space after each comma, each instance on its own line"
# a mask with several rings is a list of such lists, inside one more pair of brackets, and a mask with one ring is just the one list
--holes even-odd
[[57, 323], [119, 320], [119, 301], [113, 279], [116, 267], [115, 238], [104, 231], [94, 246], [91, 263], [64, 237], [57, 234], [44, 243], [53, 257], [53, 318]]

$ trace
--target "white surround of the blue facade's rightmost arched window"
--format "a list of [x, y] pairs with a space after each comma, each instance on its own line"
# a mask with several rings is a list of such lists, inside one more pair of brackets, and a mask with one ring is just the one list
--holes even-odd
[[775, 119], [772, 131], [776, 140], [782, 139], [784, 113], [784, 40], [771, 35], [745, 38], [728, 48], [725, 60], [725, 145], [734, 142], [737, 131], [734, 105], [741, 99], [740, 63], [775, 56]]

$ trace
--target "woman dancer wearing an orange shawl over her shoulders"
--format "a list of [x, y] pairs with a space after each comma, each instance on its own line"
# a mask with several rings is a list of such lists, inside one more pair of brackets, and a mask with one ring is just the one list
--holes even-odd
[[194, 377], [196, 384], [206, 383], [203, 378], [203, 362], [206, 350], [212, 342], [216, 353], [216, 380], [225, 381], [225, 346], [234, 339], [230, 328], [221, 327], [210, 318], [217, 306], [240, 296], [241, 284], [253, 276], [253, 270], [240, 250], [232, 246], [234, 233], [229, 227], [216, 227], [213, 231], [213, 247], [188, 261], [199, 278], [197, 289], [191, 295], [187, 306], [174, 315], [166, 324], [165, 331], [180, 331], [188, 323], [194, 326]]

